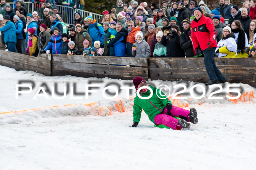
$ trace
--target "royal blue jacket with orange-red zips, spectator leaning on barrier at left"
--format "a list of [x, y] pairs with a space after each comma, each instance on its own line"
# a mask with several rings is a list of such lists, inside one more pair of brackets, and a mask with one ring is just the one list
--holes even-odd
[[61, 34], [58, 34], [57, 36], [52, 35], [44, 51], [52, 49], [52, 54], [61, 54], [62, 44], [63, 44], [63, 40], [61, 39]]

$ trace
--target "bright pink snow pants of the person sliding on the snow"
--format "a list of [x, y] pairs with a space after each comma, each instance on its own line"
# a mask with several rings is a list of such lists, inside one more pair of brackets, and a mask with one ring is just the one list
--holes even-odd
[[163, 110], [162, 113], [163, 114], [159, 114], [159, 115], [155, 116], [155, 118], [154, 118], [155, 124], [156, 125], [163, 124], [165, 126], [170, 127], [171, 129], [176, 130], [178, 119], [173, 118], [173, 116], [176, 116], [178, 118], [187, 120], [187, 116], [190, 113], [190, 111], [185, 110], [184, 108], [181, 108], [181, 107], [172, 106], [172, 109], [171, 109], [172, 116], [166, 115], [166, 113], [167, 113], [167, 108], [166, 107], [165, 107], [165, 109]]

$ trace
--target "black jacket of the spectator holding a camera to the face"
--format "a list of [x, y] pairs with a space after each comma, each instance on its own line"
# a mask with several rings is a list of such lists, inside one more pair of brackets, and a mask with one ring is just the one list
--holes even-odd
[[185, 57], [184, 50], [180, 47], [180, 36], [178, 33], [163, 36], [161, 44], [166, 46], [166, 57]]

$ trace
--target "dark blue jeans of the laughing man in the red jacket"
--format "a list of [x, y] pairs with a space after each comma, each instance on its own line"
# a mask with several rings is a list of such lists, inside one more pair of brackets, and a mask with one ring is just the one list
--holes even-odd
[[213, 59], [215, 49], [216, 47], [213, 47], [210, 50], [208, 50], [208, 48], [203, 50], [204, 66], [206, 68], [210, 81], [214, 81], [217, 79], [221, 81], [225, 81], [226, 78], [222, 75], [221, 71], [219, 71], [219, 68], [216, 66]]

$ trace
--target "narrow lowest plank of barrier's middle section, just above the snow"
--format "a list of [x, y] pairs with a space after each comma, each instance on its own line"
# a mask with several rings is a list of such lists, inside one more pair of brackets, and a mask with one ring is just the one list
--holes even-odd
[[[122, 80], [132, 80], [134, 77], [127, 77], [122, 75], [107, 75], [107, 74], [95, 74], [95, 73], [88, 73], [88, 72], [77, 72], [77, 71], [65, 71], [65, 70], [52, 70], [52, 74], [54, 76], [65, 76], [65, 75], [71, 75], [71, 76], [77, 76], [77, 77], [84, 77], [84, 78], [111, 78], [111, 79], [122, 79]], [[138, 75], [139, 76], [139, 75]], [[145, 80], [148, 80], [147, 76], [142, 77]]]

